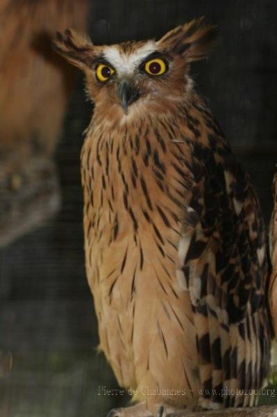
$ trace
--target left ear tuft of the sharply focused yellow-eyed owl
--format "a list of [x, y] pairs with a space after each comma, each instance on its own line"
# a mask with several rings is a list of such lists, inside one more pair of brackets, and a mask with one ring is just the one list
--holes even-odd
[[57, 32], [52, 42], [53, 49], [64, 56], [76, 67], [89, 66], [93, 58], [93, 45], [85, 35], [79, 35], [73, 29], [66, 29], [64, 33]]

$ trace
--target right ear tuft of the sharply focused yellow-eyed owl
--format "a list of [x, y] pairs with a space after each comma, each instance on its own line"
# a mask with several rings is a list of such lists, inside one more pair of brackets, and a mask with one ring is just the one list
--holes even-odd
[[208, 24], [205, 17], [200, 17], [169, 31], [158, 44], [166, 51], [180, 54], [187, 62], [192, 62], [205, 58], [216, 38], [217, 26]]

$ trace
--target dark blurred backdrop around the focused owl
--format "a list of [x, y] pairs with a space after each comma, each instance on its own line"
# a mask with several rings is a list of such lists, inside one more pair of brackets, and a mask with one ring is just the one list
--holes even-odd
[[[159, 38], [202, 15], [219, 26], [217, 48], [192, 74], [250, 172], [266, 222], [277, 162], [276, 13], [275, 0], [94, 0], [90, 13], [96, 44]], [[102, 417], [128, 400], [98, 395], [99, 385], [117, 384], [96, 354], [84, 269], [79, 154], [91, 113], [80, 76], [56, 152], [62, 209], [0, 252], [0, 349], [13, 357], [0, 379], [3, 417]]]

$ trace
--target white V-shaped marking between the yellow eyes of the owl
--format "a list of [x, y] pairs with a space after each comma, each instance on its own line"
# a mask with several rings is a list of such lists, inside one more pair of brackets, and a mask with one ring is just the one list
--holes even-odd
[[156, 42], [149, 40], [133, 54], [124, 54], [115, 46], [106, 47], [104, 58], [115, 68], [117, 74], [131, 74], [146, 56], [156, 51]]

